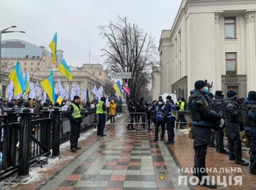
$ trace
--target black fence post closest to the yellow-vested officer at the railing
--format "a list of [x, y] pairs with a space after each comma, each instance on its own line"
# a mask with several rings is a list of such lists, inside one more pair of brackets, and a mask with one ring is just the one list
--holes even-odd
[[59, 156], [61, 112], [58, 107], [53, 107], [52, 125], [52, 156]]

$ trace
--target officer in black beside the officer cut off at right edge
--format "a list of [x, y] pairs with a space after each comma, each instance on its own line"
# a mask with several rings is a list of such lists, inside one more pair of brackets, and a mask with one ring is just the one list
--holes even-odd
[[239, 105], [235, 102], [236, 99], [237, 93], [235, 91], [227, 91], [227, 99], [225, 102], [225, 125], [229, 160], [235, 160], [236, 164], [249, 165], [249, 163], [242, 159], [242, 144], [239, 135], [242, 119]]

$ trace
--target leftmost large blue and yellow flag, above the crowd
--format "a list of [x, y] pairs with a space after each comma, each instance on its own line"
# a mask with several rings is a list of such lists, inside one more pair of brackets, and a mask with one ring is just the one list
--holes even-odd
[[13, 82], [15, 96], [26, 91], [27, 84], [23, 81], [19, 61], [15, 65], [14, 69], [11, 71], [9, 78]]

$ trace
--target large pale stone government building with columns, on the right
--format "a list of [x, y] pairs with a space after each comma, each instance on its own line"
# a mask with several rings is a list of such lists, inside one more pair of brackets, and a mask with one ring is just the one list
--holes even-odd
[[153, 99], [169, 92], [187, 100], [206, 79], [213, 94], [256, 91], [255, 13], [256, 0], [182, 0], [171, 30], [162, 30]]

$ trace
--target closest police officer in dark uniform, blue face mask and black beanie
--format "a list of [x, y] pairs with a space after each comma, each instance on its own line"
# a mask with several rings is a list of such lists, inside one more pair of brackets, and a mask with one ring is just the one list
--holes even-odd
[[[210, 142], [211, 128], [216, 120], [222, 118], [221, 113], [216, 113], [207, 97], [209, 89], [203, 80], [195, 82], [195, 89], [190, 91], [189, 107], [194, 135], [195, 165], [194, 175], [199, 178], [199, 184], [208, 188], [216, 188], [216, 184], [206, 181], [205, 157], [207, 146]], [[204, 181], [202, 181], [204, 180]]]

